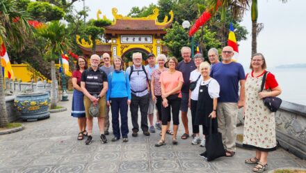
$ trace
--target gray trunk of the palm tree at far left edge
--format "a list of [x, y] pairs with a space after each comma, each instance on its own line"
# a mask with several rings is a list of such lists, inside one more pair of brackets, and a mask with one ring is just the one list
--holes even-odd
[[6, 112], [6, 96], [4, 95], [2, 67], [0, 66], [0, 128], [8, 123], [8, 112]]

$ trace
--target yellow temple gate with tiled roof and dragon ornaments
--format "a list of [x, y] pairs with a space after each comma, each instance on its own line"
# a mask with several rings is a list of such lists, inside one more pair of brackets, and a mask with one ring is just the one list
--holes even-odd
[[[92, 41], [96, 43], [96, 54], [102, 55], [105, 52], [111, 57], [124, 57], [127, 52], [140, 50], [145, 54], [153, 53], [168, 54], [168, 48], [163, 45], [162, 39], [166, 35], [166, 28], [170, 27], [173, 20], [173, 13], [170, 11], [170, 19], [166, 16], [163, 22], [158, 21], [159, 9], [155, 8], [153, 14], [147, 17], [126, 17], [118, 15], [117, 8], [112, 8], [113, 23], [105, 27], [104, 40], [90, 40], [87, 42], [77, 36], [77, 43], [86, 57], [90, 57]], [[146, 56], [143, 57], [146, 59]]]

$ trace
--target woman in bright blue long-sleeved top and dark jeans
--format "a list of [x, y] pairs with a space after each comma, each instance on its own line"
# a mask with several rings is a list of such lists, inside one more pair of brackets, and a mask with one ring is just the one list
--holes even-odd
[[[123, 142], [128, 142], [127, 134], [127, 110], [131, 103], [131, 89], [129, 87], [129, 75], [122, 70], [123, 61], [120, 57], [113, 58], [115, 70], [108, 74], [108, 90], [106, 94], [107, 105], [111, 106], [113, 139], [112, 142], [120, 140], [122, 135]], [[119, 111], [121, 127], [119, 127]], [[120, 135], [121, 130], [121, 135]]]

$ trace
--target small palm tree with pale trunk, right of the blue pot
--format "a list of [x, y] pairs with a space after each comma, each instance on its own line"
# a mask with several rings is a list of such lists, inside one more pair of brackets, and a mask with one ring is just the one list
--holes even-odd
[[64, 50], [68, 50], [71, 43], [67, 38], [65, 24], [61, 24], [58, 20], [49, 22], [47, 26], [38, 29], [38, 34], [46, 39], [47, 53], [50, 54], [51, 59], [51, 109], [56, 108], [56, 68], [55, 59]]

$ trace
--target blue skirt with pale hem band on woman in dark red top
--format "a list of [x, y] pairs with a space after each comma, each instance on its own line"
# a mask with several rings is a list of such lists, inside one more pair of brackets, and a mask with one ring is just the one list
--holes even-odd
[[84, 94], [77, 89], [73, 91], [71, 116], [79, 118], [86, 117], [84, 107]]

